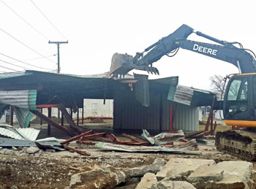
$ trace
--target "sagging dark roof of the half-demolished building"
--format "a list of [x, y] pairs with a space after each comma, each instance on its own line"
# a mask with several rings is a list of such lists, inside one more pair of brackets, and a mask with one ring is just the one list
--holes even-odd
[[[136, 82], [127, 74], [121, 79], [108, 78], [108, 72], [92, 75], [58, 74], [51, 72], [12, 72], [0, 74], [0, 90], [37, 90], [37, 104], [59, 104], [82, 107], [83, 99], [113, 99], [114, 88], [127, 88], [124, 81]], [[143, 85], [146, 85], [144, 82]], [[143, 86], [143, 85], [140, 85]], [[149, 90], [168, 93], [170, 101], [189, 106], [211, 105], [214, 93], [178, 85], [178, 77], [148, 80]], [[145, 93], [144, 93], [145, 94]]]

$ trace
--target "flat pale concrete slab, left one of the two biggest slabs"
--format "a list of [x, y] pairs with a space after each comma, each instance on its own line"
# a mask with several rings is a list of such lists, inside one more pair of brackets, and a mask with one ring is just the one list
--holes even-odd
[[202, 165], [214, 165], [213, 160], [171, 158], [157, 173], [157, 180], [166, 178], [167, 180], [182, 180], [182, 177], [188, 177], [195, 169]]

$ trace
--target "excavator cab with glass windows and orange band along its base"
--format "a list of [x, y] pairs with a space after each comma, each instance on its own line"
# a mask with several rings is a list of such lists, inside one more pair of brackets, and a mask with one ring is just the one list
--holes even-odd
[[225, 92], [223, 113], [229, 126], [256, 127], [256, 74], [236, 74]]

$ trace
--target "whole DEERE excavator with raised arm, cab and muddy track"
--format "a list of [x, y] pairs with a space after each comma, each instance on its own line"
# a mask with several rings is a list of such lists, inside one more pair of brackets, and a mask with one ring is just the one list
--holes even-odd
[[[197, 34], [214, 44], [189, 40], [190, 34]], [[256, 161], [256, 57], [241, 43], [222, 41], [184, 24], [135, 56], [115, 53], [110, 75], [122, 77], [132, 69], [159, 74], [152, 64], [164, 55], [176, 55], [180, 47], [232, 63], [238, 68], [238, 74], [229, 76], [222, 104], [226, 125], [236, 129], [217, 132], [215, 144], [219, 151]]]

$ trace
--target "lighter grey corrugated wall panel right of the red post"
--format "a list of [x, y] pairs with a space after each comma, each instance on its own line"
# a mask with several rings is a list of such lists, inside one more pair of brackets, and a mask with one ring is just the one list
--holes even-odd
[[183, 131], [199, 131], [198, 107], [178, 104], [174, 116], [173, 128]]

